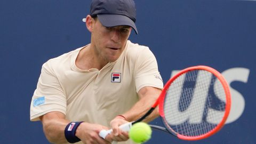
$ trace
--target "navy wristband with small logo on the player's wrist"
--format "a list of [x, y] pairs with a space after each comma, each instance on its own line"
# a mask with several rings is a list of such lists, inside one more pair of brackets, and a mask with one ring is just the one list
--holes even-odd
[[65, 137], [69, 143], [81, 141], [76, 137], [76, 129], [83, 122], [71, 122], [65, 128]]

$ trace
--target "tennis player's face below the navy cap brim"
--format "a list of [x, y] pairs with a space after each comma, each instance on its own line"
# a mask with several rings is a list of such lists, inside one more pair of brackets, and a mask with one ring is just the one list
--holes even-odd
[[93, 21], [91, 44], [95, 53], [106, 62], [116, 61], [124, 51], [131, 28], [129, 26], [105, 27], [99, 20]]

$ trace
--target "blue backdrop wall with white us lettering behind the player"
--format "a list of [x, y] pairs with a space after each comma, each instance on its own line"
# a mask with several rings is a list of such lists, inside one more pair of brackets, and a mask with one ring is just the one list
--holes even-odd
[[[195, 65], [219, 70], [231, 89], [223, 129], [201, 141], [154, 131], [147, 143], [256, 143], [256, 1], [135, 1], [130, 39], [154, 52], [164, 82]], [[48, 143], [40, 122], [29, 121], [42, 64], [90, 42], [82, 18], [90, 1], [0, 1], [0, 143]], [[152, 123], [162, 124], [159, 119]]]

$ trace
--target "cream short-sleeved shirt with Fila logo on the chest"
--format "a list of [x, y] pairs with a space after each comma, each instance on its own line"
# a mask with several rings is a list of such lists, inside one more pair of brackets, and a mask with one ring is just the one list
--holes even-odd
[[163, 88], [154, 54], [146, 46], [127, 41], [121, 56], [101, 70], [81, 70], [75, 60], [81, 47], [44, 63], [30, 105], [30, 120], [60, 111], [69, 121], [109, 127], [139, 100], [144, 86]]

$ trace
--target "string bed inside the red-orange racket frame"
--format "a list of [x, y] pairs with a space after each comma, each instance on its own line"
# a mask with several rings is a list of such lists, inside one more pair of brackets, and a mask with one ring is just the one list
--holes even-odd
[[202, 135], [217, 126], [223, 114], [216, 111], [225, 106], [225, 91], [218, 79], [208, 71], [194, 70], [179, 76], [167, 90], [165, 120], [176, 133]]

